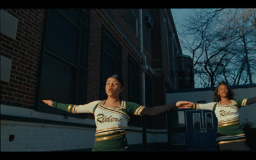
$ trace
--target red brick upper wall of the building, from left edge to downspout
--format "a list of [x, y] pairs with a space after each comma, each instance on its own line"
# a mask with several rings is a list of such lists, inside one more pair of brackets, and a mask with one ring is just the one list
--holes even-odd
[[[22, 108], [35, 108], [36, 89], [39, 68], [42, 36], [44, 33], [45, 10], [6, 10], [18, 22], [16, 40], [1, 34], [1, 55], [12, 60], [12, 70], [9, 82], [1, 81], [1, 104], [19, 106]], [[124, 16], [118, 10], [108, 10], [109, 15], [115, 20], [123, 33], [131, 40], [132, 45], [139, 50], [138, 37], [131, 34], [132, 29], [125, 22]], [[125, 12], [124, 12], [125, 13]], [[102, 26], [122, 46], [122, 68], [124, 81], [128, 80], [128, 56], [137, 61], [138, 56], [124, 42], [124, 37], [118, 33], [111, 22], [100, 10], [91, 10], [90, 42], [88, 54], [88, 84], [87, 102], [100, 97], [100, 67]], [[123, 97], [128, 98], [128, 84], [125, 83]]]

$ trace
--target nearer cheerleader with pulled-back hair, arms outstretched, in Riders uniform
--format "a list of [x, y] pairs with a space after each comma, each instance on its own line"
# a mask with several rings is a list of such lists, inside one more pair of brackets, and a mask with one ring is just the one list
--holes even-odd
[[52, 100], [42, 100], [48, 106], [70, 113], [93, 113], [96, 124], [93, 151], [125, 151], [127, 140], [125, 128], [131, 115], [155, 116], [175, 108], [191, 108], [192, 102], [178, 101], [173, 104], [147, 108], [134, 102], [120, 100], [124, 81], [118, 76], [108, 77], [105, 91], [106, 100], [95, 100], [88, 104], [62, 104]]

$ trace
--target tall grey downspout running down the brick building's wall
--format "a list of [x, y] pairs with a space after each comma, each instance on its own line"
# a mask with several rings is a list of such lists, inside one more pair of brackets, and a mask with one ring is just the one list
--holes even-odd
[[[148, 70], [147, 58], [143, 53], [143, 15], [142, 9], [139, 10], [139, 27], [140, 27], [140, 54], [143, 59], [141, 65], [141, 95], [142, 95], [142, 105], [146, 106], [146, 95], [145, 95], [145, 73]], [[143, 147], [146, 149], [147, 146], [147, 129], [146, 129], [146, 117], [142, 116], [142, 143]]]

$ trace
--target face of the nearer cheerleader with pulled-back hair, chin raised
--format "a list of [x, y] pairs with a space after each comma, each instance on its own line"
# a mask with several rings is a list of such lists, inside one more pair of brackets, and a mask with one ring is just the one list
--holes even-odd
[[122, 92], [123, 90], [123, 87], [121, 86], [120, 81], [115, 78], [109, 77], [106, 82], [105, 90], [108, 97], [118, 98], [120, 92]]

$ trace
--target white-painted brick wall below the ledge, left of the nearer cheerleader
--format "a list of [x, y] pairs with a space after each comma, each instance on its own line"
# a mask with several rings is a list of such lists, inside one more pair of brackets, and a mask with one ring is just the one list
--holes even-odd
[[[13, 141], [9, 136], [14, 135]], [[1, 151], [59, 151], [92, 148], [95, 129], [1, 120]]]

